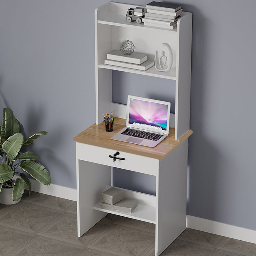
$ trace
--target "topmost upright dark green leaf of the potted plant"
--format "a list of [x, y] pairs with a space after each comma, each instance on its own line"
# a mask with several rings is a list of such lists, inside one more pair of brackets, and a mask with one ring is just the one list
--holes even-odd
[[20, 125], [17, 119], [13, 116], [12, 109], [10, 108], [3, 109], [3, 119], [5, 119], [4, 139], [7, 140], [13, 134], [20, 131]]

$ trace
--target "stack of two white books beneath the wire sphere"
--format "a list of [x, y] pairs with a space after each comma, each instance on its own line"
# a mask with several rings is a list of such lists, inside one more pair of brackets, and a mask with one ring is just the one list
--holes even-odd
[[107, 53], [104, 64], [146, 71], [153, 67], [155, 62], [154, 60], [148, 60], [148, 55], [144, 53], [133, 52], [129, 55], [119, 50], [113, 50]]

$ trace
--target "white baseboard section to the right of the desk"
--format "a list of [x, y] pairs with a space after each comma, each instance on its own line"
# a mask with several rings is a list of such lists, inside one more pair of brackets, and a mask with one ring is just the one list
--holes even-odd
[[187, 215], [187, 228], [193, 228], [204, 232], [227, 236], [234, 239], [256, 244], [256, 231], [247, 228], [240, 228], [221, 222], [206, 220]]

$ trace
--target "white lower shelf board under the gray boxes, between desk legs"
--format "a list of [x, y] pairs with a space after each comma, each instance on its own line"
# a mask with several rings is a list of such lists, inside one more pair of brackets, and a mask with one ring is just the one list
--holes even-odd
[[119, 216], [135, 219], [135, 220], [142, 220], [150, 223], [156, 224], [156, 207], [149, 206], [145, 204], [138, 203], [138, 206], [133, 210], [132, 213], [124, 213], [124, 212], [116, 212], [112, 210], [105, 210], [100, 208], [100, 202], [95, 204], [92, 209], [101, 211], [101, 212], [108, 212], [112, 214], [116, 214]]

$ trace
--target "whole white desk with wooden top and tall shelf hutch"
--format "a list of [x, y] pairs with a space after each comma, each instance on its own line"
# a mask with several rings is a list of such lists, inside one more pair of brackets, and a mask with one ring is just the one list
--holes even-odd
[[[177, 28], [146, 27], [128, 23], [129, 8], [143, 7], [110, 2], [95, 10], [96, 123], [78, 134], [76, 141], [77, 223], [82, 236], [106, 214], [113, 213], [156, 225], [155, 255], [160, 255], [186, 228], [186, 191], [190, 115], [190, 72], [192, 13], [183, 12]], [[169, 72], [152, 67], [147, 71], [105, 65], [106, 54], [131, 40], [136, 52], [148, 59], [162, 43], [172, 47], [174, 61]], [[112, 70], [175, 81], [175, 114], [170, 117], [170, 134], [155, 148], [111, 140], [125, 126], [126, 105], [112, 102]], [[159, 89], [161, 90], [161, 88]], [[116, 109], [114, 131], [105, 132], [103, 114]], [[125, 160], [113, 161], [119, 152]], [[100, 208], [101, 193], [111, 185], [111, 167], [154, 175], [156, 196], [123, 189], [124, 197], [138, 200], [132, 213]]]

